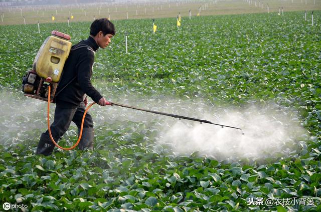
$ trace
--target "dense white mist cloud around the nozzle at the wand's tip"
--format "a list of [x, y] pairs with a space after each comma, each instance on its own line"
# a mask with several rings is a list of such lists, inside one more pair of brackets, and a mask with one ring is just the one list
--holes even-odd
[[180, 120], [164, 132], [159, 142], [172, 145], [179, 154], [198, 152], [199, 155], [217, 159], [286, 155], [293, 150], [291, 146], [306, 136], [307, 132], [297, 118], [291, 117], [293, 111], [284, 112], [277, 107], [225, 109], [215, 115], [202, 116], [213, 123], [242, 128], [244, 135], [237, 129]]

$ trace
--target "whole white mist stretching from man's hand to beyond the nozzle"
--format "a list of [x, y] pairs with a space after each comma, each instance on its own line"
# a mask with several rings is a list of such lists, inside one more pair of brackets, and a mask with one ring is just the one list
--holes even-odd
[[[119, 96], [119, 95], [118, 95]], [[153, 142], [168, 144], [180, 155], [212, 156], [220, 160], [267, 158], [286, 156], [297, 148], [297, 143], [308, 136], [301, 126], [299, 114], [292, 108], [266, 103], [265, 106], [247, 105], [242, 108], [216, 107], [202, 99], [182, 100], [165, 96], [142, 99], [135, 95], [120, 95], [119, 102], [159, 112], [189, 116], [212, 123], [242, 128], [220, 127], [212, 124], [154, 115], [119, 107], [95, 107], [96, 123], [130, 120], [144, 122], [146, 127], [157, 123]], [[112, 96], [111, 99], [116, 99]]]

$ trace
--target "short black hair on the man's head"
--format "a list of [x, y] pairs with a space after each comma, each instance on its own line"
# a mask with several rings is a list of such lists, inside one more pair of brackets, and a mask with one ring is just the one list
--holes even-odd
[[115, 35], [116, 30], [113, 23], [111, 23], [108, 19], [97, 19], [90, 26], [90, 35], [96, 36], [100, 31], [105, 35], [111, 34]]

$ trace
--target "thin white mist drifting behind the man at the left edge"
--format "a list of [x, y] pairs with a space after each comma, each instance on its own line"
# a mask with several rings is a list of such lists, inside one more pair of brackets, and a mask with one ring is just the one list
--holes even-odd
[[[0, 105], [0, 144], [9, 146], [25, 142], [27, 138], [36, 139], [47, 127], [47, 104], [44, 101], [25, 97], [17, 89], [3, 89]], [[53, 106], [51, 110], [54, 111]], [[39, 130], [37, 135], [31, 133], [35, 130]]]

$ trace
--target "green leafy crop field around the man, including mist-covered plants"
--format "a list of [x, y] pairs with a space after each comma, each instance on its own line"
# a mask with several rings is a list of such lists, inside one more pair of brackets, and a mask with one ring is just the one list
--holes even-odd
[[[0, 26], [0, 203], [23, 211], [320, 211], [321, 11], [116, 20], [92, 81], [113, 102], [239, 130], [94, 105], [93, 151], [35, 155], [46, 102], [21, 79], [52, 30]], [[128, 54], [125, 52], [128, 33]], [[54, 105], [51, 106], [51, 122]], [[72, 125], [62, 146], [77, 139]], [[271, 203], [272, 202], [272, 203]], [[24, 208], [22, 208], [22, 205]], [[15, 209], [14, 209], [15, 210]], [[20, 210], [20, 209], [19, 209]], [[10, 210], [11, 211], [11, 210]]]

